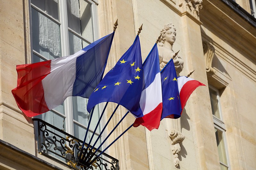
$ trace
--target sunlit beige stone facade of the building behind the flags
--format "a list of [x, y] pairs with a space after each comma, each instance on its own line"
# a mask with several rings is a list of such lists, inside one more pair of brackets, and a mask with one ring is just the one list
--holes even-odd
[[[37, 152], [33, 121], [17, 107], [11, 93], [17, 85], [16, 65], [31, 63], [29, 2], [0, 1], [0, 169], [69, 169]], [[249, 0], [236, 2], [250, 10]], [[173, 50], [180, 50], [184, 61], [179, 75], [195, 70], [191, 78], [220, 92], [229, 168], [256, 169], [256, 28], [252, 24], [222, 0], [98, 0], [97, 11], [99, 37], [111, 33], [118, 18], [106, 71], [130, 47], [142, 23], [145, 60], [162, 27], [171, 22], [177, 29]], [[115, 107], [108, 106], [106, 117]], [[199, 87], [181, 118], [163, 119], [151, 132], [142, 126], [131, 128], [107, 153], [127, 170], [220, 169], [211, 109], [208, 87]], [[125, 113], [119, 107], [111, 127]], [[128, 115], [109, 143], [134, 120]]]

